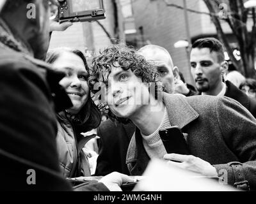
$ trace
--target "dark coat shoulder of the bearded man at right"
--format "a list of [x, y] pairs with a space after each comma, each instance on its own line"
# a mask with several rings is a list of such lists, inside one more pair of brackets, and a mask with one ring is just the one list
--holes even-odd
[[256, 118], [256, 99], [248, 97], [243, 91], [238, 89], [232, 82], [226, 81], [227, 90], [225, 96], [235, 99], [247, 108]]

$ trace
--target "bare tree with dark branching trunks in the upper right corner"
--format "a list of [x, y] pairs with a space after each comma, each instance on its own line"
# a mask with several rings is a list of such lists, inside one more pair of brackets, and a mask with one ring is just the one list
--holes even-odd
[[[194, 10], [188, 10], [194, 13], [200, 13], [204, 15], [210, 15], [211, 20], [214, 23], [217, 31], [218, 38], [225, 46], [230, 60], [233, 62], [234, 66], [241, 71], [246, 77], [255, 77], [254, 69], [254, 59], [255, 59], [255, 34], [256, 34], [256, 14], [255, 8], [246, 9], [244, 8], [243, 0], [203, 0], [207, 6], [209, 13], [200, 12]], [[175, 4], [168, 4], [168, 6], [177, 7]], [[227, 13], [225, 18], [220, 18], [220, 6], [227, 5]], [[181, 8], [181, 6], [178, 6]], [[177, 8], [178, 8], [177, 7]], [[246, 23], [248, 18], [252, 17], [252, 29], [248, 30]], [[234, 57], [232, 48], [230, 47], [227, 35], [223, 32], [223, 27], [221, 26], [221, 20], [225, 20], [232, 33], [236, 38], [236, 42], [241, 52], [241, 63], [237, 62], [236, 57]], [[240, 66], [241, 64], [241, 66]]]

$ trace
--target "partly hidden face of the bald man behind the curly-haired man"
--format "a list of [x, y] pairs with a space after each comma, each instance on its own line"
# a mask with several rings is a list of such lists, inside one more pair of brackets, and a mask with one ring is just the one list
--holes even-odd
[[164, 92], [168, 92], [170, 94], [174, 93], [175, 86], [173, 71], [175, 70], [175, 77], [179, 71], [176, 67], [173, 68], [170, 55], [157, 48], [156, 50], [150, 50], [150, 48], [148, 48], [142, 50], [139, 54], [143, 55], [147, 61], [152, 61], [156, 64], [157, 72], [159, 73], [159, 80], [164, 85]]

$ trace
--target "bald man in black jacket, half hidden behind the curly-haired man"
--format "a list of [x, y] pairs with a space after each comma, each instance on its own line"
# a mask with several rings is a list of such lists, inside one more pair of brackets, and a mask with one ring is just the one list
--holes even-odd
[[[179, 69], [173, 66], [169, 52], [158, 45], [146, 45], [138, 50], [138, 54], [156, 64], [159, 80], [164, 85], [164, 92], [173, 94], [175, 83], [181, 80], [179, 80]], [[134, 130], [135, 126], [132, 123], [115, 124], [110, 119], [100, 124], [97, 128], [100, 142], [95, 175], [107, 175], [112, 171], [129, 174], [125, 158]]]

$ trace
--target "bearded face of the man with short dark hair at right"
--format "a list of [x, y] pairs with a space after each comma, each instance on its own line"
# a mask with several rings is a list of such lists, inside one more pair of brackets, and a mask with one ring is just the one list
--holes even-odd
[[218, 54], [209, 48], [193, 48], [190, 55], [191, 73], [200, 92], [211, 91], [221, 84], [222, 75]]

